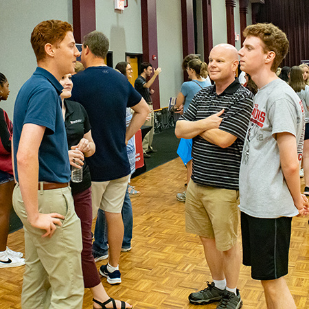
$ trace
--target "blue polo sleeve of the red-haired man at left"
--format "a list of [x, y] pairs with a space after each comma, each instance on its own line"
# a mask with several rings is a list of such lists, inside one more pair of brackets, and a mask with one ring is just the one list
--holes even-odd
[[54, 134], [57, 104], [60, 98], [53, 89], [38, 89], [29, 100], [23, 124], [45, 126], [45, 134]]

